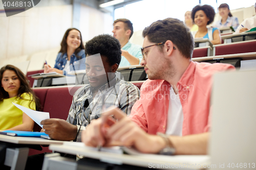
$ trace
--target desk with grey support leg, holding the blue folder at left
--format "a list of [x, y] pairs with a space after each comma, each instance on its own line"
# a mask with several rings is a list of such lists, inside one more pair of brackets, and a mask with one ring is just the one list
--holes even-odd
[[64, 141], [49, 140], [40, 137], [19, 137], [0, 135], [0, 141], [11, 147], [7, 147], [5, 162], [6, 166], [11, 166], [11, 169], [25, 169], [30, 144], [62, 144]]

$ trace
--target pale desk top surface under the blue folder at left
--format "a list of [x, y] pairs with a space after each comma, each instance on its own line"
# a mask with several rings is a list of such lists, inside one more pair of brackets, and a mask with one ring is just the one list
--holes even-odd
[[62, 144], [61, 140], [49, 140], [40, 137], [20, 137], [20, 136], [8, 136], [0, 135], [0, 141], [15, 143], [15, 144]]

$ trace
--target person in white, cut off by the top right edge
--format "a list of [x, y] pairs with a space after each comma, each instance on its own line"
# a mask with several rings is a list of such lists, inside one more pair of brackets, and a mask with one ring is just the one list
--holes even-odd
[[[254, 5], [255, 13], [256, 13], [256, 3]], [[237, 31], [234, 33], [242, 33], [244, 31], [248, 31], [252, 28], [256, 27], [256, 15], [246, 18], [243, 20], [243, 22], [238, 26]]]

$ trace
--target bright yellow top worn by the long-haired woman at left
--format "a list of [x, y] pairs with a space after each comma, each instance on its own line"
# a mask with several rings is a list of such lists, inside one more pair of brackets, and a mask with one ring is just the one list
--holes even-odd
[[23, 111], [14, 106], [12, 102], [35, 110], [35, 102], [30, 104], [32, 96], [28, 93], [23, 93], [21, 96], [23, 99], [16, 99], [15, 96], [0, 102], [0, 130], [10, 129], [23, 123]]

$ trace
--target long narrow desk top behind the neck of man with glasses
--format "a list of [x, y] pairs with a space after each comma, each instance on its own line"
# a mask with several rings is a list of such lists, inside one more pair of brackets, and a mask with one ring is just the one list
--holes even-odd
[[239, 54], [228, 54], [228, 55], [219, 55], [219, 56], [209, 56], [209, 57], [197, 57], [192, 58], [193, 61], [201, 62], [205, 60], [213, 60], [218, 58], [242, 58], [243, 60], [253, 60], [256, 59], [256, 52], [252, 53], [239, 53]]

